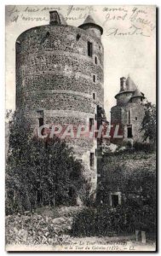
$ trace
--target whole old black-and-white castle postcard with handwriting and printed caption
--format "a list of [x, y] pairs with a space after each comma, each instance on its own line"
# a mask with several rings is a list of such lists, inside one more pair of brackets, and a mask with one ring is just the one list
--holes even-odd
[[5, 11], [6, 250], [156, 251], [156, 6]]

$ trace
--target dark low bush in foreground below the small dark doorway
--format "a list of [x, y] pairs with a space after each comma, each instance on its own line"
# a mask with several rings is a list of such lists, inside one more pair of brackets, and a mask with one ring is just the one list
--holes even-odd
[[72, 236], [114, 236], [134, 231], [135, 216], [128, 207], [90, 207], [72, 224]]

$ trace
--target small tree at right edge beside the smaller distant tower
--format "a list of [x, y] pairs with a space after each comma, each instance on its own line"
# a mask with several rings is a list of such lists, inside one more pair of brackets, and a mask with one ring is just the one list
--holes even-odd
[[149, 138], [150, 142], [156, 142], [156, 106], [147, 102], [144, 119], [141, 124], [141, 131], [144, 131], [144, 141]]

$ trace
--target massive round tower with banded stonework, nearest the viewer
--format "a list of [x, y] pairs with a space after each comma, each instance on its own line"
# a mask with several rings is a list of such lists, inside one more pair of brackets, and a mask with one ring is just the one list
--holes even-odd
[[[101, 26], [88, 16], [79, 26], [67, 26], [56, 11], [49, 25], [36, 26], [16, 41], [16, 108], [43, 124], [86, 125], [103, 108], [103, 46]], [[74, 137], [67, 141], [83, 161], [85, 177], [95, 189], [97, 140]]]

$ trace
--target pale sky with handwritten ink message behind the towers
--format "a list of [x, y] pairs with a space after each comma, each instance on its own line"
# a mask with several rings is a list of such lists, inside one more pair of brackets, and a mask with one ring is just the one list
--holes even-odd
[[49, 24], [49, 10], [64, 15], [70, 26], [79, 26], [87, 15], [103, 27], [104, 106], [110, 120], [120, 78], [130, 76], [145, 94], [156, 100], [156, 14], [155, 6], [6, 6], [6, 108], [15, 108], [15, 41], [33, 26]]

